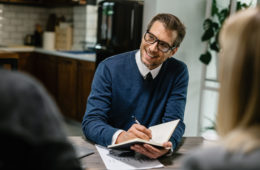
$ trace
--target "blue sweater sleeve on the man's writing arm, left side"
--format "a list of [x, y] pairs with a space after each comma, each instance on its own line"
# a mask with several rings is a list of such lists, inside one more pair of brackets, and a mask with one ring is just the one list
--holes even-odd
[[113, 134], [118, 130], [109, 125], [108, 112], [111, 109], [112, 77], [104, 62], [100, 63], [88, 97], [82, 129], [87, 139], [102, 146], [111, 144]]

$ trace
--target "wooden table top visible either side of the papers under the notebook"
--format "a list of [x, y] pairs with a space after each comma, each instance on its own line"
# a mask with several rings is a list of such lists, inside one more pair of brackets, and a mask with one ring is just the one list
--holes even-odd
[[[85, 140], [84, 137], [81, 136], [70, 136], [69, 140], [76, 145], [87, 146], [88, 148], [94, 150], [94, 154], [81, 158], [80, 160], [85, 170], [106, 169], [93, 143]], [[159, 158], [159, 161], [165, 166], [163, 169], [179, 169], [179, 158], [191, 149], [200, 146], [202, 143], [202, 137], [183, 137], [180, 146], [177, 148], [177, 152], [175, 152], [172, 156]]]

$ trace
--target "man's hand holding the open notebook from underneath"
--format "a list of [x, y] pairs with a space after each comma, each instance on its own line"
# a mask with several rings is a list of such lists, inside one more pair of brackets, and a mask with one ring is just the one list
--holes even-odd
[[164, 154], [166, 154], [169, 151], [169, 149], [172, 147], [172, 143], [165, 142], [163, 144], [163, 146], [164, 146], [164, 149], [158, 149], [149, 144], [143, 144], [143, 145], [135, 144], [135, 145], [131, 146], [131, 149], [136, 152], [139, 152], [151, 159], [156, 159], [156, 158], [159, 158], [159, 157], [163, 156]]

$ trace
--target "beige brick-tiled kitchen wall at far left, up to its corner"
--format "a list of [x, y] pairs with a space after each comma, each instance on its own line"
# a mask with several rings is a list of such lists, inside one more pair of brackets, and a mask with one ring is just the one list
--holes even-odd
[[19, 6], [10, 4], [0, 5], [0, 44], [22, 45], [26, 34], [33, 34], [35, 25], [46, 27], [48, 16], [55, 13], [58, 17], [65, 16], [72, 21], [72, 8], [43, 8]]

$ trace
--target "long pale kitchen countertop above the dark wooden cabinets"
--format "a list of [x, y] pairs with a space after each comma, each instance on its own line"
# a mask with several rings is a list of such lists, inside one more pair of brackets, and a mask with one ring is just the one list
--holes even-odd
[[95, 52], [80, 52], [80, 51], [57, 51], [57, 50], [46, 50], [43, 48], [36, 48], [32, 46], [17, 46], [17, 47], [1, 47], [0, 51], [6, 52], [38, 52], [42, 54], [56, 55], [60, 57], [72, 58], [77, 60], [85, 61], [96, 61]]

